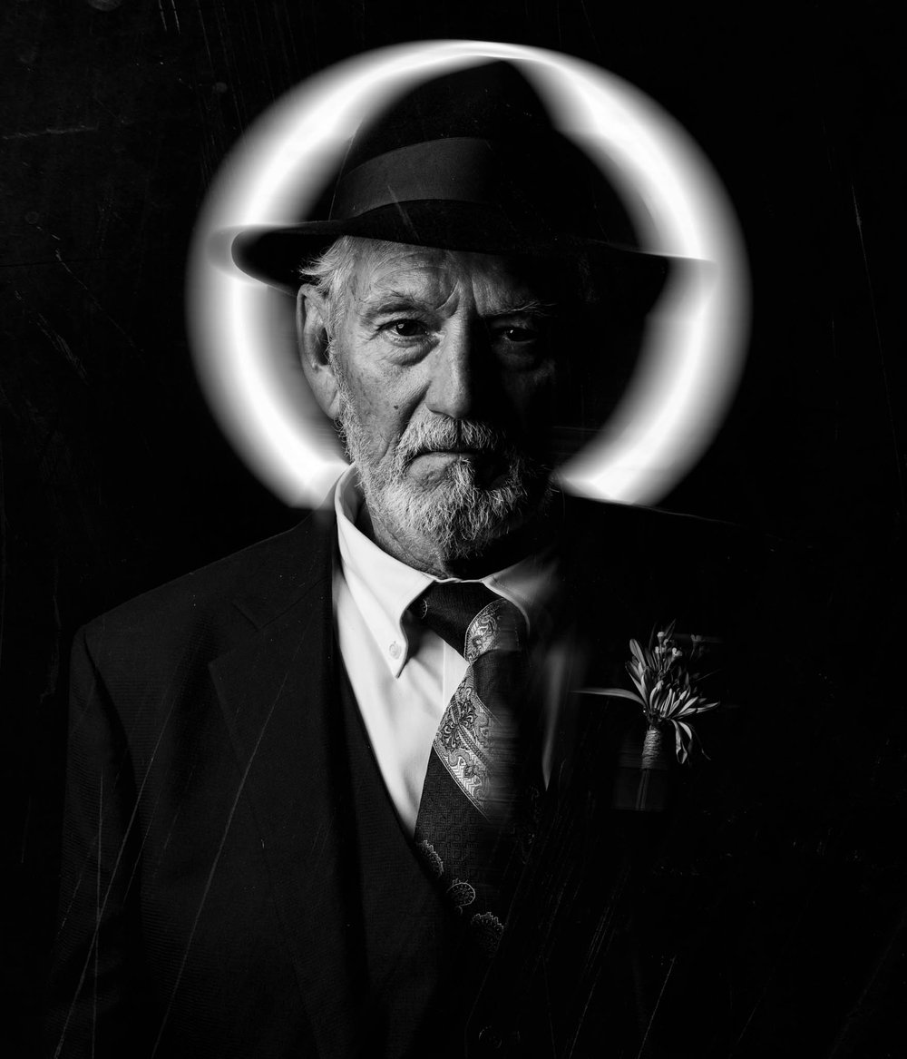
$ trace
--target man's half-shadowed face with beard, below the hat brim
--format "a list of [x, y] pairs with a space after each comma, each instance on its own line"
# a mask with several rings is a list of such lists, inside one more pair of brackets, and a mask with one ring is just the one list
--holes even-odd
[[357, 261], [331, 364], [379, 543], [443, 569], [541, 513], [556, 309], [502, 257], [379, 244]]

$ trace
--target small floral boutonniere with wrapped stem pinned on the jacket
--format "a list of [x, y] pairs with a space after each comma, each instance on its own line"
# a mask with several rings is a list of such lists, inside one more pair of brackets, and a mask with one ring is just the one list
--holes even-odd
[[[685, 646], [682, 647], [674, 633], [674, 625], [671, 622], [666, 629], [653, 633], [648, 647], [642, 647], [638, 640], [630, 641], [631, 658], [627, 662], [627, 671], [635, 692], [623, 687], [584, 688], [591, 695], [629, 699], [642, 710], [646, 735], [639, 759], [641, 783], [636, 808], [656, 807], [646, 804], [648, 780], [654, 770], [667, 768], [670, 753], [668, 740], [672, 731], [674, 753], [681, 765], [684, 765], [690, 760], [697, 743], [691, 719], [720, 705], [716, 701], [707, 701], [697, 686], [702, 676], [695, 670], [703, 656], [705, 638], [684, 636]], [[700, 751], [708, 756], [701, 746]]]

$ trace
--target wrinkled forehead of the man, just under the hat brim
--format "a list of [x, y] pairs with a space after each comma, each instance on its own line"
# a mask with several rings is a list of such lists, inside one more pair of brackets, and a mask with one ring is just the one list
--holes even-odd
[[557, 280], [539, 258], [375, 243], [358, 256], [350, 286], [355, 308], [398, 299], [439, 310], [467, 303], [485, 315], [555, 303]]

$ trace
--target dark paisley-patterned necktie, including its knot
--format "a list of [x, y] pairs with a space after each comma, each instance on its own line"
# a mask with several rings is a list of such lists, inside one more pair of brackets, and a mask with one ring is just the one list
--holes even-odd
[[475, 941], [492, 954], [542, 789], [526, 623], [513, 604], [475, 581], [435, 584], [413, 610], [468, 662], [432, 744], [416, 845]]

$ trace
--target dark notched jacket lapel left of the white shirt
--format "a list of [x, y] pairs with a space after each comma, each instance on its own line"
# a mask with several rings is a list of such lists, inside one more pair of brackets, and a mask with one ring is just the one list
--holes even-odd
[[[211, 665], [319, 1051], [356, 1051], [359, 901], [335, 679], [332, 521], [294, 533], [236, 605], [256, 631]], [[293, 535], [290, 535], [292, 538]]]

